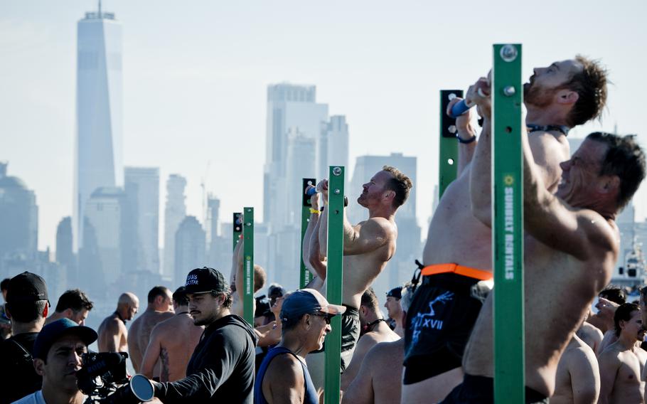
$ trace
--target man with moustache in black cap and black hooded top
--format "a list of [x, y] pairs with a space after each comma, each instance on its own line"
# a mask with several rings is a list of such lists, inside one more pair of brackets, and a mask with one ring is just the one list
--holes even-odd
[[[231, 292], [223, 274], [198, 268], [186, 277], [189, 310], [206, 329], [186, 368], [186, 378], [154, 383], [165, 404], [252, 404], [257, 337], [247, 322], [230, 314]], [[199, 401], [198, 401], [199, 400]]]

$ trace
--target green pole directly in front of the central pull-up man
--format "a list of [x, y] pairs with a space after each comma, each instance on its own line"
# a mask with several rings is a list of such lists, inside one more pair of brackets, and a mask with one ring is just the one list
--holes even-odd
[[[328, 176], [328, 268], [326, 269], [326, 299], [341, 304], [343, 277], [343, 166], [331, 166]], [[341, 358], [341, 316], [331, 319], [332, 331], [326, 336], [326, 382], [324, 402], [339, 403], [339, 368]]]

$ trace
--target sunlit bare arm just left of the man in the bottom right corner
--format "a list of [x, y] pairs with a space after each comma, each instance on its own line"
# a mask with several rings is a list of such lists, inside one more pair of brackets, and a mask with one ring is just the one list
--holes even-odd
[[576, 351], [569, 361], [574, 404], [594, 404], [600, 393], [600, 372], [593, 350]]

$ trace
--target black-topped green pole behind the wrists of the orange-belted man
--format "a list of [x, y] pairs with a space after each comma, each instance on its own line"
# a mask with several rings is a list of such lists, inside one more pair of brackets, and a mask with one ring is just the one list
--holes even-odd
[[458, 167], [459, 147], [456, 140], [456, 118], [447, 115], [447, 105], [454, 97], [463, 97], [463, 92], [461, 90], [440, 90], [439, 199], [451, 181], [456, 179]]

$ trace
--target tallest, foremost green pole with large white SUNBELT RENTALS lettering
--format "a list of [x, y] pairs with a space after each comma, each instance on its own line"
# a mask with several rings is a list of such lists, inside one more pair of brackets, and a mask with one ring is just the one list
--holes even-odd
[[492, 70], [494, 401], [525, 401], [521, 45], [496, 44]]

